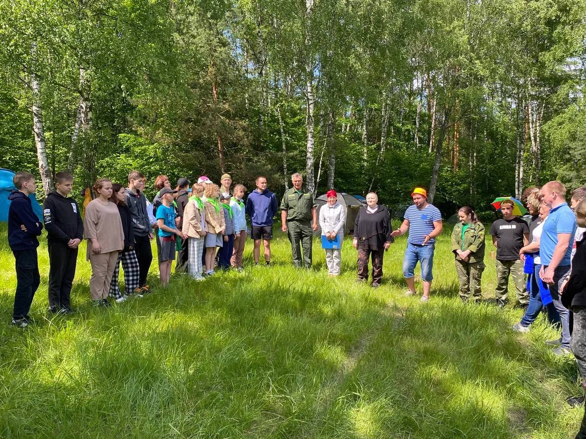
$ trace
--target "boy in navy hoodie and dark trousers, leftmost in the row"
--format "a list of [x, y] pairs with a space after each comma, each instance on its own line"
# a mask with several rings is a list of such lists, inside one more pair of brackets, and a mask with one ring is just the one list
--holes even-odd
[[35, 193], [35, 176], [28, 172], [17, 172], [12, 183], [18, 188], [8, 196], [8, 245], [16, 259], [16, 292], [12, 324], [25, 328], [30, 321], [30, 304], [39, 287], [39, 261], [36, 238], [43, 224], [33, 212], [29, 195]]

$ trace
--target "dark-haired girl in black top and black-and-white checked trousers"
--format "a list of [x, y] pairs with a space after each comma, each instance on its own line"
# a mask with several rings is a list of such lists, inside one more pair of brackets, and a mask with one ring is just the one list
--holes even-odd
[[[118, 253], [118, 261], [114, 268], [114, 275], [112, 276], [112, 282], [110, 282], [110, 296], [120, 303], [128, 299], [133, 294], [137, 294], [138, 289], [138, 276], [139, 266], [137, 253], [134, 252], [134, 229], [132, 229], [132, 219], [130, 216], [130, 209], [126, 205], [125, 188], [121, 184], [114, 183], [112, 185], [112, 196], [110, 201], [118, 206], [118, 212], [120, 212], [120, 219], [122, 220], [122, 230], [124, 231], [124, 249]], [[120, 292], [118, 287], [118, 273], [120, 273], [120, 262], [122, 262], [122, 268], [124, 269], [124, 283], [126, 285], [126, 291], [124, 296]], [[138, 294], [139, 297], [142, 297]]]

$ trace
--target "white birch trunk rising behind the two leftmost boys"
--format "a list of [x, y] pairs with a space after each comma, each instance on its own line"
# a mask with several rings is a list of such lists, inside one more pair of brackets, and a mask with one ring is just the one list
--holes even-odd
[[[32, 56], [33, 66], [36, 62], [37, 44], [30, 44], [30, 54]], [[45, 196], [53, 190], [53, 177], [49, 169], [49, 160], [47, 159], [47, 148], [45, 144], [45, 128], [43, 126], [43, 104], [41, 102], [40, 84], [35, 74], [35, 67], [30, 72], [30, 90], [32, 91], [32, 114], [33, 114], [33, 135], [35, 136], [35, 146], [37, 157], [39, 159], [39, 174], [43, 183], [43, 192]]]

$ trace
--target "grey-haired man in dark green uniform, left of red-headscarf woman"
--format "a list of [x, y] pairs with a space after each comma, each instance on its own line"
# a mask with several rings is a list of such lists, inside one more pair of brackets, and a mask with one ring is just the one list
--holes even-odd
[[[311, 191], [304, 191], [301, 174], [293, 174], [291, 181], [293, 187], [285, 192], [281, 200], [282, 231], [289, 232], [295, 267], [299, 268], [305, 265], [305, 268], [310, 268], [311, 243], [314, 231], [318, 229], [317, 204], [314, 200], [314, 194]], [[301, 246], [303, 260], [301, 259]]]

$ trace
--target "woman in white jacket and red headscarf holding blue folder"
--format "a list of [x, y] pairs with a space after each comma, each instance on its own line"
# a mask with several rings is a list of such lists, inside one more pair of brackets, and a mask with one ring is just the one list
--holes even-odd
[[326, 265], [329, 276], [338, 276], [342, 266], [342, 242], [344, 241], [344, 224], [346, 223], [346, 208], [338, 203], [338, 194], [335, 190], [326, 193], [328, 204], [319, 210], [319, 227], [322, 235], [328, 240], [339, 237], [339, 248], [326, 248]]

